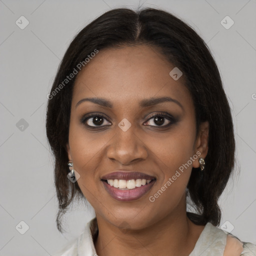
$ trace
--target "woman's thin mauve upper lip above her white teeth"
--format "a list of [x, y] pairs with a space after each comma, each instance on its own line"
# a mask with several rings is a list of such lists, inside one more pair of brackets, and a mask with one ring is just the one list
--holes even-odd
[[139, 171], [114, 171], [101, 177], [101, 179], [155, 179], [154, 176]]

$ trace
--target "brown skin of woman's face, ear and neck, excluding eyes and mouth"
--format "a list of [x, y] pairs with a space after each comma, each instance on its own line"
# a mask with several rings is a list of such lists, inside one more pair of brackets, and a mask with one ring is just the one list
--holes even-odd
[[[155, 48], [123, 46], [100, 50], [76, 76], [66, 149], [80, 174], [78, 185], [95, 210], [99, 256], [187, 256], [204, 228], [187, 218], [185, 204], [186, 185], [192, 166], [199, 167], [199, 157], [154, 202], [148, 199], [196, 151], [204, 158], [208, 150], [208, 122], [200, 124], [196, 136], [192, 98], [183, 76], [174, 80], [169, 75], [173, 67]], [[160, 96], [169, 96], [182, 107], [167, 101], [139, 107], [140, 100]], [[85, 97], [105, 98], [112, 108], [89, 101], [75, 107]], [[101, 126], [110, 125], [98, 128], [90, 118], [87, 124], [97, 129], [87, 128], [79, 120], [91, 112], [105, 115]], [[159, 112], [176, 121], [164, 119], [157, 125], [151, 116]], [[123, 118], [131, 123], [127, 131], [118, 126]], [[100, 177], [118, 169], [145, 172], [156, 182], [135, 201], [117, 201]]]

